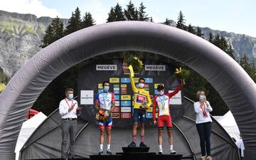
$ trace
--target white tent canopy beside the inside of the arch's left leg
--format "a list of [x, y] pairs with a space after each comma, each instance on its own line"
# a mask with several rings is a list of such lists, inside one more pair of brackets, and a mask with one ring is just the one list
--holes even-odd
[[16, 144], [15, 152], [16, 152], [16, 160], [18, 160], [19, 151], [21, 150], [23, 144], [25, 144], [26, 140], [30, 135], [34, 132], [34, 130], [46, 119], [46, 115], [43, 112], [39, 112], [31, 119], [23, 122], [21, 127], [21, 132], [18, 135], [18, 141]]

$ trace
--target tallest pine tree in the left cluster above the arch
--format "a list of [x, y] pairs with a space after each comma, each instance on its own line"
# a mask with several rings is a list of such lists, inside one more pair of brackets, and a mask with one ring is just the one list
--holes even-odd
[[68, 20], [68, 26], [65, 30], [65, 35], [78, 31], [82, 28], [82, 20], [80, 9], [77, 7], [75, 9], [75, 14], [72, 12], [72, 16]]

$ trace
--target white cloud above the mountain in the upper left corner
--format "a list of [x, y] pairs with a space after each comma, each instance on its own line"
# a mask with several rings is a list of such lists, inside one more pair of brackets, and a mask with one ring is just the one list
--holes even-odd
[[37, 17], [61, 17], [56, 9], [48, 9], [40, 0], [1, 0], [0, 10], [19, 14], [35, 14]]

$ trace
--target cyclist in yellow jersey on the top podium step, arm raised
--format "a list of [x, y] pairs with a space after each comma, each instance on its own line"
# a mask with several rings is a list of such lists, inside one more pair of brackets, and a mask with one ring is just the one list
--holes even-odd
[[137, 127], [138, 122], [141, 123], [141, 143], [140, 147], [146, 147], [144, 144], [144, 127], [146, 123], [146, 110], [149, 109], [152, 102], [149, 96], [149, 91], [144, 89], [145, 80], [144, 78], [139, 78], [139, 87], [136, 87], [134, 83], [134, 74], [132, 68], [129, 67], [130, 70], [130, 80], [132, 85], [132, 90], [134, 92], [134, 110], [132, 114], [132, 143], [129, 144], [129, 147], [136, 147], [136, 137], [137, 137]]

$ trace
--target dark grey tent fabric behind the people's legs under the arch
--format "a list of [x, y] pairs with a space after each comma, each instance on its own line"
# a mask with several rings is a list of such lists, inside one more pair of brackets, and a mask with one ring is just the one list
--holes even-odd
[[[176, 114], [175, 108], [171, 108], [171, 110]], [[177, 118], [174, 122], [174, 148], [178, 151], [178, 154], [183, 154], [183, 157], [188, 157], [191, 160], [198, 159], [201, 156], [201, 149], [196, 131], [193, 102], [185, 97], [179, 110], [183, 112], [183, 116]], [[21, 149], [21, 160], [60, 158], [60, 121], [58, 110], [55, 110], [24, 144]], [[76, 158], [89, 158], [90, 155], [97, 154], [100, 135], [97, 125], [93, 122], [87, 123], [83, 119], [78, 119], [77, 132]], [[159, 149], [157, 133], [156, 127], [146, 127], [145, 143], [150, 147], [149, 151], [157, 152]], [[167, 139], [166, 129], [164, 129], [163, 149], [165, 154], [169, 154]], [[122, 152], [122, 147], [127, 146], [130, 141], [131, 127], [114, 127], [113, 124], [112, 151], [114, 153]], [[215, 160], [239, 159], [237, 146], [215, 119], [213, 119], [211, 142], [211, 151]]]

